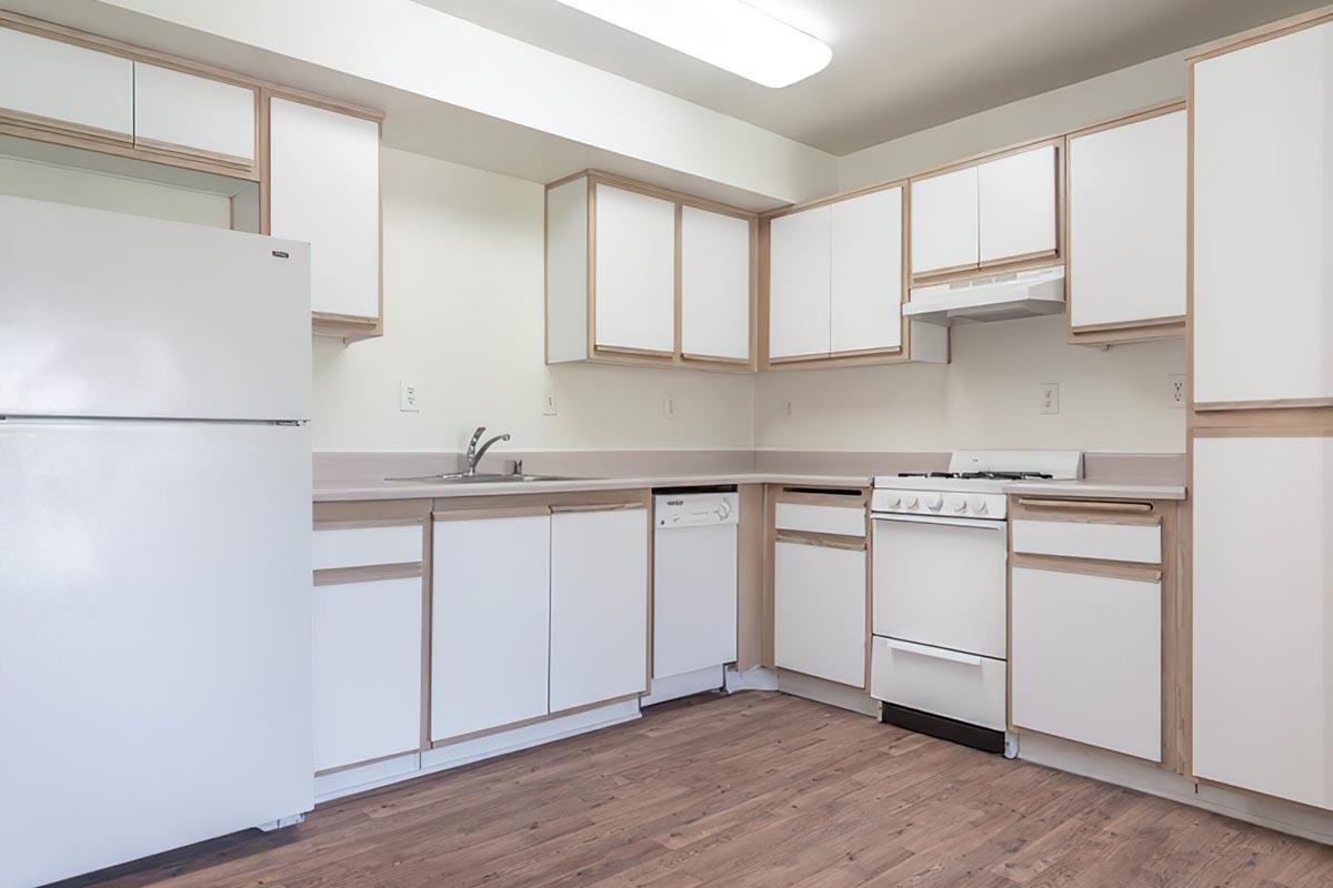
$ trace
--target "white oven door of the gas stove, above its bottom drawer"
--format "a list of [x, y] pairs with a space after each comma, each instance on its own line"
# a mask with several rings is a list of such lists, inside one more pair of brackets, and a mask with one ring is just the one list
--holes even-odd
[[1008, 525], [873, 518], [874, 635], [1005, 659]]

